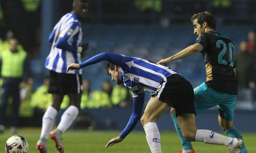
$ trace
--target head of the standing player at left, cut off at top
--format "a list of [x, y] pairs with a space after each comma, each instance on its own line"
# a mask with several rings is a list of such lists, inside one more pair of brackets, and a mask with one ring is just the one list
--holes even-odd
[[88, 12], [88, 2], [87, 0], [74, 0], [73, 1], [73, 12], [80, 18], [86, 17]]

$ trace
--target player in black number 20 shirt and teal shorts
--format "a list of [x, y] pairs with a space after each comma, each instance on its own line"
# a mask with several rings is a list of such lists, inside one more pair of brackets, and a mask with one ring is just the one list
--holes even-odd
[[[193, 15], [191, 22], [194, 26], [194, 34], [198, 36], [196, 43], [186, 47], [174, 56], [162, 59], [157, 64], [168, 65], [172, 61], [201, 52], [205, 61], [206, 81], [194, 89], [195, 110], [202, 113], [217, 105], [219, 108], [219, 124], [223, 131], [230, 138], [243, 140], [242, 135], [233, 125], [234, 108], [236, 107], [238, 94], [234, 45], [225, 35], [216, 32], [215, 18], [209, 12]], [[174, 120], [182, 143], [182, 150], [179, 152], [195, 152], [191, 142], [184, 139], [179, 130], [176, 118], [177, 109], [172, 109], [170, 115]], [[244, 144], [240, 152], [247, 153]]]

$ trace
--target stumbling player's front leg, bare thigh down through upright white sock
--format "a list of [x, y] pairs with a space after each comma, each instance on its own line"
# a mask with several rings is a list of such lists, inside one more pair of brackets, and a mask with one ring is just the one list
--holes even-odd
[[169, 110], [170, 107], [171, 106], [163, 103], [156, 97], [151, 97], [150, 101], [147, 103], [144, 114], [141, 117], [141, 124], [144, 127], [147, 143], [152, 152], [162, 152], [160, 133], [156, 121], [164, 112]]

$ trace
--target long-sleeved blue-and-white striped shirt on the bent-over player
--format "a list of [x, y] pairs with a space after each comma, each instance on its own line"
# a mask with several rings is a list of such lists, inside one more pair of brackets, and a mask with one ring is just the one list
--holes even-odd
[[153, 93], [157, 91], [161, 82], [167, 81], [166, 77], [177, 72], [169, 67], [147, 60], [113, 53], [101, 53], [82, 62], [79, 66], [82, 68], [105, 60], [122, 68], [120, 80], [126, 87], [130, 88], [134, 97], [133, 113], [126, 127], [119, 135], [124, 139], [134, 129], [140, 119], [144, 104], [144, 92], [149, 91]]

